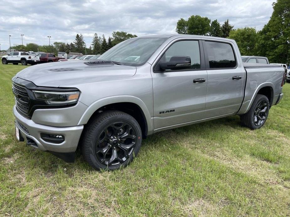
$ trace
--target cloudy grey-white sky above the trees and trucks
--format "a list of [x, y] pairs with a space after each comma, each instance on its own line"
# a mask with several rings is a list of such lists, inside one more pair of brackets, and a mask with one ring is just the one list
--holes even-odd
[[220, 23], [229, 19], [235, 28], [260, 30], [270, 19], [274, 0], [0, 0], [1, 49], [23, 43], [70, 43], [82, 33], [87, 47], [94, 33], [106, 38], [113, 31], [138, 36], [175, 33], [176, 22], [191, 15]]

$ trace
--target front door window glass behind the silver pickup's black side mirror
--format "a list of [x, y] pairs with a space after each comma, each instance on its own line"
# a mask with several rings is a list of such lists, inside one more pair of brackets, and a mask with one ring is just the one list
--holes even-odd
[[[175, 42], [166, 50], [159, 62], [169, 62], [173, 56], [189, 56], [191, 60], [191, 69], [200, 68], [200, 51], [198, 41], [187, 40]], [[174, 70], [168, 69], [166, 71]]]

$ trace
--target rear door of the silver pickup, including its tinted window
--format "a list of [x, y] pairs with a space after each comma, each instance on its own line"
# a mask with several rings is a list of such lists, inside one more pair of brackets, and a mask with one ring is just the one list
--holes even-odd
[[235, 44], [204, 40], [203, 48], [208, 73], [204, 118], [238, 112], [243, 100], [245, 70], [235, 55]]

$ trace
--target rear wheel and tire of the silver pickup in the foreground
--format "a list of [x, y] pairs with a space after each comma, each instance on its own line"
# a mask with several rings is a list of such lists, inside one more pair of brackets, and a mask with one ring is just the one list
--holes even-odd
[[240, 116], [242, 125], [250, 129], [260, 129], [268, 118], [269, 105], [269, 99], [265, 95], [257, 94], [250, 110]]

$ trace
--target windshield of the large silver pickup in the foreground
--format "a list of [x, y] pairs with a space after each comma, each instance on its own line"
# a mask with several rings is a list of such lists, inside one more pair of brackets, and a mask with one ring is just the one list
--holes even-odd
[[167, 38], [133, 38], [103, 53], [98, 59], [129, 66], [143, 65]]

